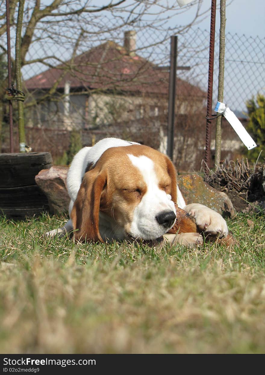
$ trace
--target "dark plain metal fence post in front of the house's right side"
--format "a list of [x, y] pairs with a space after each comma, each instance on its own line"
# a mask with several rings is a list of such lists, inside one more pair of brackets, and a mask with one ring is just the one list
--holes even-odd
[[173, 161], [174, 151], [174, 122], [176, 98], [176, 70], [177, 70], [177, 36], [170, 37], [170, 73], [168, 92], [168, 128], [167, 128], [167, 155]]

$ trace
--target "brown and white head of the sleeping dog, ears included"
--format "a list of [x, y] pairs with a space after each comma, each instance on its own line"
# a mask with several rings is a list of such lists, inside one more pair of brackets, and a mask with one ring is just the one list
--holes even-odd
[[143, 145], [109, 148], [83, 177], [71, 211], [74, 237], [104, 242], [100, 211], [134, 239], [161, 237], [176, 220], [176, 186], [175, 168], [159, 151]]

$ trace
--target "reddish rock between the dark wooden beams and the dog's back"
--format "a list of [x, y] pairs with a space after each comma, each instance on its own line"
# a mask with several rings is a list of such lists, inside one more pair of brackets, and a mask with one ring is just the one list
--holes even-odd
[[66, 188], [67, 172], [67, 166], [52, 166], [50, 169], [42, 169], [35, 177], [37, 185], [48, 198], [52, 213], [68, 212], [70, 197]]

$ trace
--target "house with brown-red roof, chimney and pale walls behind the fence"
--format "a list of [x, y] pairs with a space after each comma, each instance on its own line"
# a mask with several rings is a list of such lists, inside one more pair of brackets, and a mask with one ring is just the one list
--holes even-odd
[[[127, 31], [124, 46], [107, 41], [25, 81], [28, 100], [39, 100], [34, 126], [86, 129], [167, 113], [168, 69], [135, 49], [136, 33]], [[47, 99], [40, 100], [44, 95]], [[177, 80], [178, 113], [187, 113], [190, 98], [194, 110], [201, 107], [205, 96], [198, 87]]]

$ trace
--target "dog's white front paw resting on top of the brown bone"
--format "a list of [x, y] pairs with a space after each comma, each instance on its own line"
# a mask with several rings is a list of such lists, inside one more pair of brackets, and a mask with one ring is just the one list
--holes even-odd
[[199, 203], [188, 204], [184, 209], [195, 218], [196, 225], [205, 236], [222, 238], [228, 235], [226, 221], [218, 212]]

